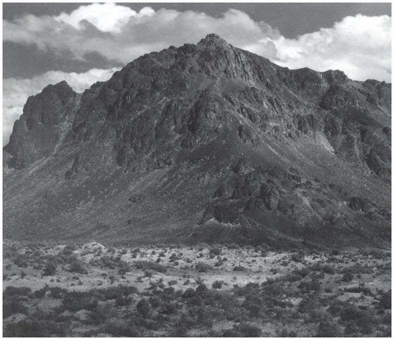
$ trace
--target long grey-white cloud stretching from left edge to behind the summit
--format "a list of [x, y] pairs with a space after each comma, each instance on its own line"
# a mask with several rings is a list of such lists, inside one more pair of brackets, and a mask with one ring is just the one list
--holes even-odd
[[233, 9], [212, 17], [193, 11], [155, 12], [150, 7], [137, 13], [115, 4], [91, 4], [57, 17], [24, 15], [12, 22], [3, 21], [3, 40], [35, 43], [41, 49], [70, 49], [80, 59], [95, 51], [124, 64], [170, 45], [197, 43], [209, 33], [240, 47], [280, 35], [268, 24], [257, 23]]

